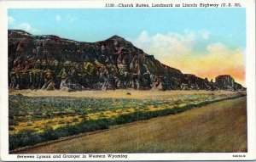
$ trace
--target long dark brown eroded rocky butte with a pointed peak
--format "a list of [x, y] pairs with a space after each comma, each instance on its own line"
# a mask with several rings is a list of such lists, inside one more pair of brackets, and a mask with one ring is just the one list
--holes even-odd
[[112, 36], [77, 42], [59, 36], [8, 31], [9, 88], [64, 91], [245, 90], [230, 75], [208, 81], [161, 64], [131, 42]]

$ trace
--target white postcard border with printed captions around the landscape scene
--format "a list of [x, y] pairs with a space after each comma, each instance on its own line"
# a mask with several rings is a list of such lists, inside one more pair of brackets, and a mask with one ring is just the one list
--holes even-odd
[[[8, 133], [8, 8], [105, 8], [105, 3], [191, 3], [189, 0], [178, 1], [135, 1], [135, 0], [96, 0], [96, 1], [2, 1], [0, 2], [1, 30], [0, 30], [0, 107], [1, 107], [1, 160], [35, 161], [57, 160], [70, 161], [73, 159], [18, 159], [17, 154], [9, 154]], [[256, 118], [255, 118], [255, 2], [253, 0], [197, 0], [192, 3], [241, 3], [247, 13], [247, 58], [246, 58], [246, 85], [247, 85], [247, 153], [195, 153], [195, 154], [124, 154], [127, 159], [75, 159], [75, 160], [249, 160], [256, 159]], [[107, 8], [106, 8], [107, 9]], [[111, 8], [108, 8], [111, 9]], [[125, 8], [119, 8], [125, 9]], [[150, 9], [150, 8], [142, 8]], [[159, 8], [160, 9], [160, 8]], [[172, 9], [172, 8], [170, 8]], [[218, 8], [217, 8], [218, 9]], [[233, 157], [243, 154], [246, 157]], [[37, 155], [42, 154], [26, 154]], [[53, 154], [51, 154], [53, 155]], [[58, 154], [56, 154], [58, 155]], [[75, 154], [73, 154], [75, 155]], [[85, 154], [88, 155], [88, 154]], [[108, 156], [108, 154], [106, 154]]]

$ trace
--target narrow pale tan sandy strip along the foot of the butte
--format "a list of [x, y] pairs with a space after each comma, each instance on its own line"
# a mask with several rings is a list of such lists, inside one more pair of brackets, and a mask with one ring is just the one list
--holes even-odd
[[[130, 92], [131, 95], [127, 95]], [[236, 94], [231, 91], [206, 91], [206, 90], [175, 90], [175, 91], [154, 91], [154, 90], [108, 90], [108, 91], [80, 91], [80, 92], [64, 92], [64, 91], [32, 91], [32, 90], [10, 90], [9, 95], [22, 94], [28, 97], [72, 97], [72, 98], [132, 98], [132, 99], [170, 99], [177, 95], [191, 94], [217, 94], [230, 95]]]

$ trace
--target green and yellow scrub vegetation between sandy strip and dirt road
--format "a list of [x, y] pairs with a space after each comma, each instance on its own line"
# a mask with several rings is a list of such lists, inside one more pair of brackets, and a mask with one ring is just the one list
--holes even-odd
[[[183, 101], [178, 98], [173, 100], [138, 100], [125, 98], [67, 98], [67, 97], [37, 97], [29, 98], [22, 95], [9, 96], [9, 149], [21, 148], [34, 145], [40, 142], [48, 142], [77, 135], [79, 133], [107, 129], [110, 126], [130, 123], [137, 120], [148, 120], [164, 115], [175, 115], [187, 109], [201, 107], [231, 98], [239, 98], [242, 94], [230, 97], [219, 96], [208, 99], [214, 95], [184, 95]], [[189, 101], [186, 103], [186, 101]], [[181, 103], [186, 103], [183, 106]], [[165, 108], [160, 109], [164, 105]], [[145, 109], [154, 107], [154, 110]], [[155, 108], [156, 107], [156, 108]], [[131, 109], [135, 111], [125, 111]], [[108, 117], [103, 112], [114, 111], [118, 115]], [[127, 114], [128, 112], [128, 114]], [[87, 120], [86, 115], [98, 113], [94, 120]], [[80, 118], [79, 115], [82, 115]], [[75, 117], [77, 116], [77, 117]], [[67, 120], [66, 118], [70, 118]], [[53, 120], [60, 118], [62, 120]], [[66, 119], [66, 120], [65, 120]], [[15, 131], [17, 123], [26, 123], [26, 127], [32, 126], [33, 122], [40, 121], [41, 129], [38, 126]], [[47, 121], [47, 122], [43, 122]], [[60, 125], [60, 126], [54, 126]], [[42, 127], [44, 127], [42, 129]]]

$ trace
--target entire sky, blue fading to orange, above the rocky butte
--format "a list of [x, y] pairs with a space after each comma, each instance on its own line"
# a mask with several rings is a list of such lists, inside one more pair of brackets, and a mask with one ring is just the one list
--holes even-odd
[[245, 86], [245, 8], [50, 8], [8, 10], [9, 29], [80, 42], [124, 37], [185, 74], [232, 75]]

